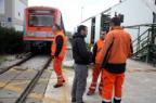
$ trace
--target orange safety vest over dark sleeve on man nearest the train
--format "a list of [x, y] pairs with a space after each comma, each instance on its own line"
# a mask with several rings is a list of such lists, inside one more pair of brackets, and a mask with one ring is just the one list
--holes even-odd
[[51, 48], [52, 55], [54, 55], [55, 52], [56, 52], [56, 38], [57, 38], [57, 36], [62, 36], [63, 37], [63, 47], [62, 47], [62, 50], [61, 50], [61, 52], [58, 54], [58, 57], [64, 57], [65, 56], [65, 52], [66, 52], [66, 37], [65, 37], [63, 31], [56, 31], [55, 33], [54, 40], [53, 40], [52, 48]]

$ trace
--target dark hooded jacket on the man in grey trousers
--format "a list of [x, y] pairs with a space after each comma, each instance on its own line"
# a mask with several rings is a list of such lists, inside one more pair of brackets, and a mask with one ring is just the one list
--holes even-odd
[[73, 37], [73, 57], [76, 64], [87, 65], [90, 63], [91, 53], [87, 50], [84, 36], [75, 34]]

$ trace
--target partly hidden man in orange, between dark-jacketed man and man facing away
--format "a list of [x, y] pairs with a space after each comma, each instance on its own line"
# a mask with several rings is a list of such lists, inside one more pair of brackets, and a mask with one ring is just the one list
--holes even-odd
[[[103, 47], [103, 41], [105, 38], [105, 35], [108, 30], [101, 30], [101, 35], [100, 35], [100, 39], [95, 42], [94, 47], [93, 47], [93, 57], [92, 57], [92, 64], [93, 64], [93, 72], [92, 72], [92, 82], [89, 87], [89, 91], [88, 91], [88, 95], [92, 95], [95, 92], [96, 89], [96, 83], [98, 83], [98, 78], [102, 72], [102, 68], [100, 67], [100, 65], [95, 64], [95, 60], [96, 60], [96, 55], [99, 55], [100, 51], [102, 50]], [[101, 89], [102, 83], [100, 83], [99, 89]]]

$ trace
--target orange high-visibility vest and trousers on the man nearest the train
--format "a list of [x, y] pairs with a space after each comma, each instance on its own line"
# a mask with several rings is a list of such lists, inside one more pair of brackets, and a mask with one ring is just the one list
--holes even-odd
[[[56, 38], [58, 36], [62, 36], [62, 38], [63, 38], [63, 46], [62, 46], [62, 50], [61, 50], [58, 56], [55, 56], [56, 44], [57, 44]], [[62, 73], [62, 62], [63, 62], [65, 53], [66, 53], [66, 37], [63, 31], [55, 31], [51, 51], [52, 51], [52, 56], [55, 56], [54, 61], [53, 61], [53, 69], [57, 76], [57, 85], [62, 85], [64, 82], [64, 77], [63, 77], [63, 73]]]

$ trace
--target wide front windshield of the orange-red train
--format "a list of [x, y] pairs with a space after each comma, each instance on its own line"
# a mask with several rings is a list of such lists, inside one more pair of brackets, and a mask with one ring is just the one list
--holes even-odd
[[52, 15], [40, 15], [40, 14], [29, 15], [29, 26], [52, 27], [52, 24], [53, 24]]

